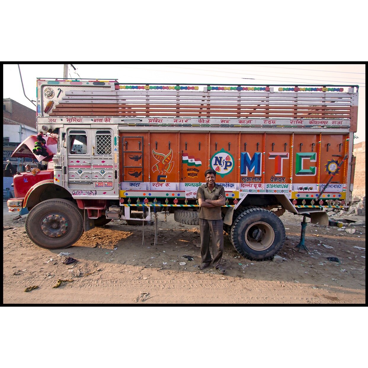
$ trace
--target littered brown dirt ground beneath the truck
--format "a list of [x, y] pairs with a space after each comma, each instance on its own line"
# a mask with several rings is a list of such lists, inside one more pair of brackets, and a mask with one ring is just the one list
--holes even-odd
[[[360, 226], [323, 227], [308, 223], [308, 253], [294, 251], [301, 216], [285, 213], [282, 263], [255, 262], [238, 255], [227, 235], [227, 272], [199, 270], [199, 227], [158, 214], [155, 226], [112, 221], [83, 234], [72, 247], [46, 250], [25, 233], [25, 218], [14, 220], [4, 202], [4, 304], [364, 304], [365, 217]], [[152, 216], [153, 219], [153, 216]], [[309, 219], [307, 219], [309, 221]], [[350, 234], [346, 229], [355, 229]], [[350, 230], [348, 230], [350, 231]], [[359, 248], [362, 249], [359, 249]], [[65, 265], [71, 253], [78, 260]], [[189, 261], [184, 255], [192, 256]], [[339, 262], [327, 257], [337, 257]], [[180, 265], [185, 262], [185, 265]], [[59, 287], [53, 287], [58, 280]], [[37, 289], [25, 292], [31, 286]]]

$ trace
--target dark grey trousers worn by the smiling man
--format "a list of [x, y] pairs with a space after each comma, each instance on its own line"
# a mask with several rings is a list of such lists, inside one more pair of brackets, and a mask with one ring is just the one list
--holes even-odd
[[201, 232], [201, 258], [203, 263], [211, 263], [209, 250], [209, 238], [212, 234], [213, 267], [219, 268], [224, 250], [224, 233], [222, 220], [199, 219], [199, 231]]

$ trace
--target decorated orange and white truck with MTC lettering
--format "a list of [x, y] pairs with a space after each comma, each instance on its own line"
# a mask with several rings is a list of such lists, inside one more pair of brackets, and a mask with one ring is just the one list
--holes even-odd
[[34, 154], [52, 161], [46, 174], [14, 178], [8, 207], [29, 209], [26, 233], [48, 249], [162, 210], [196, 225], [197, 190], [212, 168], [231, 243], [270, 259], [284, 244], [285, 210], [327, 225], [325, 208], [348, 208], [357, 102], [358, 86], [38, 79], [37, 129], [54, 144], [46, 158]]

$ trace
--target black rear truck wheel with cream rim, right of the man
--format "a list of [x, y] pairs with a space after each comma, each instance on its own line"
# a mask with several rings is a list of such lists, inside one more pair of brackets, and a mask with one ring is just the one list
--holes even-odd
[[231, 227], [230, 240], [245, 258], [266, 261], [284, 245], [285, 227], [271, 211], [251, 208], [236, 218]]

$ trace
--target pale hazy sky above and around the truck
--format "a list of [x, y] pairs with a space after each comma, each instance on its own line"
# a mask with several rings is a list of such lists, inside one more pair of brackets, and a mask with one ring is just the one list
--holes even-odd
[[[358, 131], [365, 141], [365, 64], [73, 64], [69, 78], [117, 79], [120, 83], [359, 85]], [[36, 100], [36, 78], [62, 78], [63, 64], [20, 64], [26, 96]], [[3, 65], [3, 98], [35, 110], [25, 98], [17, 64]], [[78, 73], [78, 75], [77, 75]], [[243, 79], [254, 78], [254, 79]]]

